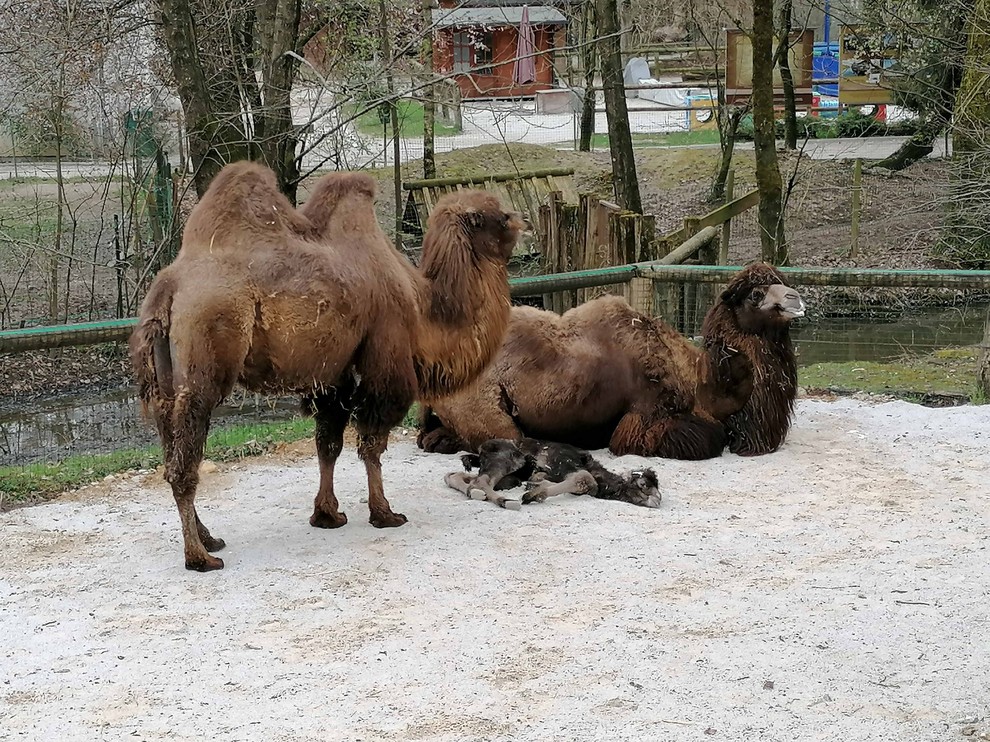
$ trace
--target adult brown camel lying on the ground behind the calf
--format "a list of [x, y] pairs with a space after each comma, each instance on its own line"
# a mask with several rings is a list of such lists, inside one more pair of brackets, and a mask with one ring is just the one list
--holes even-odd
[[428, 451], [533, 437], [616, 454], [704, 459], [728, 444], [777, 449], [797, 372], [797, 292], [764, 264], [741, 271], [705, 318], [698, 348], [661, 320], [606, 296], [563, 316], [512, 310], [505, 342], [477, 384], [426, 410]]

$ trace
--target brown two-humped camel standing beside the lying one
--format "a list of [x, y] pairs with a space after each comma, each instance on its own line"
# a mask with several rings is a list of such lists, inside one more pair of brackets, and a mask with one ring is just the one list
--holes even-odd
[[322, 178], [294, 209], [267, 168], [228, 165], [155, 278], [131, 337], [145, 409], [162, 440], [187, 569], [221, 569], [224, 547], [196, 513], [212, 410], [234, 384], [301, 393], [316, 419], [320, 486], [310, 523], [347, 522], [334, 464], [352, 418], [371, 524], [400, 526], [382, 488], [389, 430], [418, 396], [456, 392], [491, 361], [508, 323], [506, 263], [522, 222], [483, 191], [441, 199], [420, 270], [375, 220], [374, 181]]

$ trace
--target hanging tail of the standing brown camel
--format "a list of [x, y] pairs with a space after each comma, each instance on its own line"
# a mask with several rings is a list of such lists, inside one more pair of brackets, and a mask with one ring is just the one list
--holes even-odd
[[145, 413], [155, 402], [174, 396], [172, 353], [168, 332], [174, 286], [159, 276], [141, 305], [141, 317], [131, 333], [131, 365]]

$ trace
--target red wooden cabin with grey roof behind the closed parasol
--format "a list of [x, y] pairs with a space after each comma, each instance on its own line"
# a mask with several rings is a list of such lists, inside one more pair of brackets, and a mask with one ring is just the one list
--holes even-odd
[[[440, 0], [433, 11], [437, 73], [454, 74], [464, 98], [531, 96], [553, 87], [554, 54], [566, 43], [562, 3], [518, 0]], [[566, 3], [563, 3], [566, 5]], [[534, 74], [514, 79], [519, 29], [527, 8], [533, 31]]]

